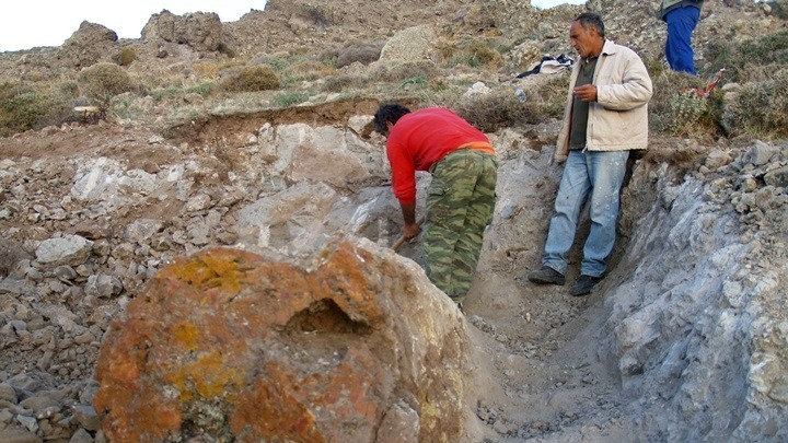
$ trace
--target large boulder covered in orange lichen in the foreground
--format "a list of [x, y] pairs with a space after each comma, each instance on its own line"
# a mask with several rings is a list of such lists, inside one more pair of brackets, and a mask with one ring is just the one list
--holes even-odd
[[210, 249], [114, 323], [94, 406], [111, 441], [461, 441], [468, 343], [424, 272], [369, 241], [311, 270]]

